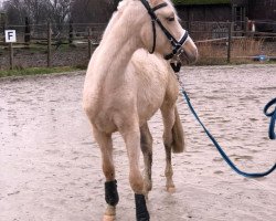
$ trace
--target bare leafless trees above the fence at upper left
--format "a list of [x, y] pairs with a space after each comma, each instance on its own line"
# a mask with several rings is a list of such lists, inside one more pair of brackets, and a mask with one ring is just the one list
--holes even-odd
[[8, 22], [23, 24], [29, 17], [33, 24], [51, 21], [63, 24], [71, 19], [77, 23], [106, 23], [119, 0], [6, 0], [3, 10]]

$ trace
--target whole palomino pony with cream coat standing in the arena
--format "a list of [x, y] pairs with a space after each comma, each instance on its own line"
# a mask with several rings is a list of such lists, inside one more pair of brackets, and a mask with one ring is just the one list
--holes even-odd
[[[151, 190], [152, 137], [147, 120], [159, 108], [164, 125], [166, 186], [168, 190], [174, 188], [171, 151], [183, 151], [184, 139], [176, 106], [178, 82], [163, 59], [174, 55], [193, 62], [198, 50], [180, 25], [172, 3], [169, 0], [123, 0], [91, 59], [83, 105], [102, 151], [107, 202], [104, 220], [115, 219], [119, 201], [112, 143], [112, 134], [117, 130], [124, 138], [129, 159], [136, 219], [150, 219], [145, 196]], [[139, 168], [140, 151], [145, 161], [144, 177]]]

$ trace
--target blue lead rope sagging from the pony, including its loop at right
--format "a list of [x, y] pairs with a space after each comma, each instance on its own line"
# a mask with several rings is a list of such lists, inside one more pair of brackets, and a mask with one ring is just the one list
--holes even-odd
[[[227, 157], [227, 155], [223, 151], [223, 149], [221, 148], [221, 146], [219, 145], [219, 143], [215, 140], [215, 138], [210, 134], [210, 131], [206, 129], [206, 127], [203, 125], [203, 123], [200, 120], [198, 114], [195, 113], [195, 110], [192, 107], [192, 104], [190, 102], [190, 98], [188, 96], [188, 94], [185, 93], [184, 88], [182, 88], [182, 94], [188, 103], [188, 106], [190, 107], [192, 114], [194, 115], [194, 117], [198, 119], [198, 122], [200, 123], [200, 125], [202, 126], [202, 128], [204, 129], [204, 131], [206, 133], [206, 135], [209, 136], [209, 138], [212, 140], [212, 143], [214, 144], [214, 146], [216, 147], [216, 149], [219, 150], [219, 152], [221, 154], [221, 156], [223, 157], [223, 159], [229, 164], [229, 166], [236, 171], [238, 175], [242, 175], [244, 177], [247, 178], [258, 178], [258, 177], [265, 177], [267, 175], [269, 175], [270, 172], [273, 172], [276, 168], [276, 164], [266, 172], [254, 172], [254, 173], [250, 173], [250, 172], [244, 172], [241, 171], [234, 164], [233, 161], [231, 161], [231, 159]], [[272, 105], [276, 104], [276, 98], [274, 98], [273, 101], [270, 101], [264, 108], [264, 113], [266, 116], [272, 117], [270, 120], [270, 125], [269, 125], [269, 129], [268, 129], [268, 134], [269, 134], [269, 138], [270, 139], [275, 139], [276, 135], [274, 131], [275, 128], [275, 122], [276, 122], [276, 107], [275, 110], [272, 113], [267, 113], [267, 110], [269, 109], [269, 107]]]

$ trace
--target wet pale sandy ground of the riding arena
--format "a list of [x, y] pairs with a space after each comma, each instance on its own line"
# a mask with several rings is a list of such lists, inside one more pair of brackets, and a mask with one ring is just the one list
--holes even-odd
[[[200, 117], [245, 171], [275, 164], [264, 105], [276, 96], [276, 65], [184, 67]], [[0, 80], [0, 221], [99, 221], [105, 210], [99, 149], [81, 107], [84, 72]], [[173, 155], [177, 191], [164, 191], [162, 123], [150, 120], [152, 221], [273, 221], [276, 172], [246, 179], [222, 160], [179, 97], [187, 151]], [[118, 221], [135, 220], [124, 143], [114, 135]], [[142, 168], [142, 166], [141, 166]]]

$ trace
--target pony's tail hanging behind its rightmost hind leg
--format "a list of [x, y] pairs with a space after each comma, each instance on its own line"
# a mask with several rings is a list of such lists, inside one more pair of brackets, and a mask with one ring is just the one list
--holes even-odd
[[185, 149], [184, 131], [180, 120], [178, 108], [174, 107], [174, 124], [172, 126], [172, 152], [183, 152]]

